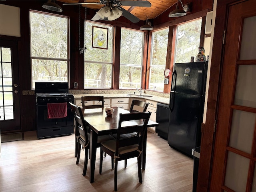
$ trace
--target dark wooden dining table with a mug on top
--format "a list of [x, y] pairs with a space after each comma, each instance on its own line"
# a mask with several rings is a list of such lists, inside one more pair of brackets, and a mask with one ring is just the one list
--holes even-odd
[[[96, 109], [82, 109], [84, 120], [90, 127], [90, 182], [94, 182], [95, 162], [96, 162], [96, 150], [98, 136], [114, 134], [118, 129], [119, 114], [130, 113], [128, 110], [124, 110], [118, 107], [114, 108], [114, 114], [107, 116], [105, 108]], [[149, 120], [147, 127], [158, 126], [158, 123]], [[142, 169], [146, 167], [146, 135], [143, 142], [142, 149]]]

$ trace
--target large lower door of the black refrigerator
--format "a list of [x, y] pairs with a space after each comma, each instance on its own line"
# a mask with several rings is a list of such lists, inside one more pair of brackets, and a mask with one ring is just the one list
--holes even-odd
[[202, 123], [202, 96], [174, 94], [170, 112], [168, 144], [192, 157], [192, 149], [200, 146]]

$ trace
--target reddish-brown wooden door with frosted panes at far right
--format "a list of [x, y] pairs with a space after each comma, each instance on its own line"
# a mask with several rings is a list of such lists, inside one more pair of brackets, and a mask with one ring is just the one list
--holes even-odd
[[228, 7], [210, 191], [256, 192], [256, 1]]

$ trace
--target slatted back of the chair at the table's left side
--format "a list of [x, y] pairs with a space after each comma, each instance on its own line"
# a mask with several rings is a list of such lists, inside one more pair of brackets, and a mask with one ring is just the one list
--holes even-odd
[[73, 112], [74, 118], [75, 118], [75, 126], [76, 126], [76, 137], [78, 137], [79, 135], [82, 135], [82, 137], [84, 138], [84, 144], [86, 145], [89, 140], [88, 140], [88, 130], [86, 129], [86, 122], [84, 120], [84, 116], [82, 113], [82, 110], [80, 107], [72, 104], [72, 102], [70, 102], [70, 106], [71, 106], [71, 110]]

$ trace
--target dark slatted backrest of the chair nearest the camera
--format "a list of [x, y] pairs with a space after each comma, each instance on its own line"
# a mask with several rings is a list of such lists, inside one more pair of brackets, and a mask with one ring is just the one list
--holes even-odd
[[[118, 131], [116, 136], [116, 153], [120, 147], [138, 144], [138, 148], [142, 151], [142, 143], [147, 130], [148, 120], [151, 112], [134, 112], [128, 114], [120, 114], [118, 122]], [[139, 124], [138, 124], [139, 123]], [[120, 135], [138, 132], [138, 136], [122, 139]]]

